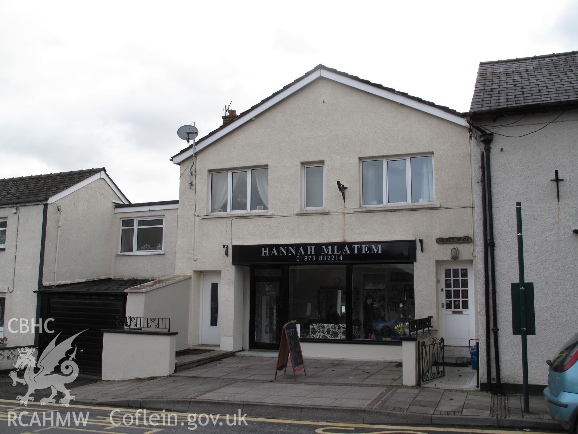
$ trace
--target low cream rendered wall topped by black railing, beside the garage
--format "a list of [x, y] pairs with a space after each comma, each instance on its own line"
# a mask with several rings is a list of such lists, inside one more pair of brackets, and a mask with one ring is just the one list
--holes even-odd
[[164, 377], [175, 372], [178, 335], [104, 333], [102, 380]]

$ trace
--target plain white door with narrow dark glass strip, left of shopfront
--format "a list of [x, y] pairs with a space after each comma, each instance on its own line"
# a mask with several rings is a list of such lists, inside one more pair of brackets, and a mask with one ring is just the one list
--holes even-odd
[[221, 343], [221, 275], [203, 274], [201, 344]]

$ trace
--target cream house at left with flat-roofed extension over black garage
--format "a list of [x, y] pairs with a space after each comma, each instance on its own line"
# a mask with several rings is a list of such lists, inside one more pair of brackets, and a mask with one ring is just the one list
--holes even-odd
[[[177, 207], [129, 203], [105, 168], [0, 179], [0, 369], [17, 347], [87, 329], [76, 359], [99, 374], [101, 329], [125, 316], [127, 290], [174, 271]], [[55, 334], [34, 327], [48, 318]]]

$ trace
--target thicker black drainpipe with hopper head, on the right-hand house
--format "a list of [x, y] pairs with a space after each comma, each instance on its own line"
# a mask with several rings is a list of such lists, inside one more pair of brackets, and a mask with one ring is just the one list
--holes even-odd
[[495, 242], [494, 242], [494, 212], [492, 211], [492, 177], [490, 165], [491, 142], [494, 140], [493, 133], [481, 134], [480, 141], [484, 144], [486, 155], [486, 190], [488, 208], [488, 246], [490, 247], [490, 273], [492, 284], [492, 332], [494, 332], [494, 358], [496, 363], [496, 386], [502, 385], [500, 378], [500, 355], [498, 348], [498, 309], [496, 305], [496, 269], [495, 269]]

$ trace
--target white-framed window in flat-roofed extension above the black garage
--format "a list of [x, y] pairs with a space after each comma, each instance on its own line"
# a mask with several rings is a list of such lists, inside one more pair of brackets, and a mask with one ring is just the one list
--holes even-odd
[[120, 220], [120, 255], [154, 255], [164, 252], [165, 218]]

